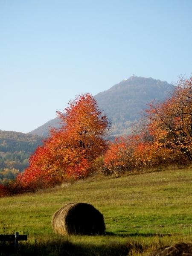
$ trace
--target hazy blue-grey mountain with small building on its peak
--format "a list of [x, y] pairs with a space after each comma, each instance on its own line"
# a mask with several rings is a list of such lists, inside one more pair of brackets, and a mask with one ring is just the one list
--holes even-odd
[[[140, 119], [140, 113], [148, 108], [149, 102], [162, 101], [173, 90], [174, 85], [166, 81], [131, 76], [94, 97], [112, 122], [111, 135], [119, 136], [130, 132], [131, 125]], [[47, 136], [50, 127], [59, 127], [59, 119], [52, 119], [29, 134]]]

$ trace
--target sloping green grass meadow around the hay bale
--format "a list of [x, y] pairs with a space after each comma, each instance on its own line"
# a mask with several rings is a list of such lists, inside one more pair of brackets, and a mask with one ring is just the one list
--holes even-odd
[[[53, 213], [70, 202], [93, 204], [105, 236], [55, 235]], [[0, 199], [0, 233], [28, 234], [12, 255], [143, 255], [192, 240], [192, 167], [124, 177], [95, 177]], [[2, 253], [11, 250], [4, 244]], [[4, 255], [1, 254], [0, 255]]]

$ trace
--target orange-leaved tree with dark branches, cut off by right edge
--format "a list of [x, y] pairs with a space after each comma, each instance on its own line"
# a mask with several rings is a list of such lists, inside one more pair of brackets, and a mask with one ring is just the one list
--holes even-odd
[[174, 93], [147, 111], [149, 129], [159, 146], [178, 151], [192, 160], [192, 77], [180, 79]]

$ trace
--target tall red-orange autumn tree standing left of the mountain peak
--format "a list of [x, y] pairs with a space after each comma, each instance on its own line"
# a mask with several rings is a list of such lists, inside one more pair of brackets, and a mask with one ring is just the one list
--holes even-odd
[[17, 177], [23, 186], [52, 186], [69, 177], [86, 177], [108, 146], [104, 137], [110, 123], [90, 93], [79, 95], [57, 115], [61, 128], [50, 131], [30, 157], [29, 167]]

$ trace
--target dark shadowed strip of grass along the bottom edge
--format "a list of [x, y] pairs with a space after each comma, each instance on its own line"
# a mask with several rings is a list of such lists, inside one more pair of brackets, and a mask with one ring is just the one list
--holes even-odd
[[0, 256], [125, 256], [138, 244], [73, 244], [70, 241], [57, 239], [34, 244], [20, 243], [15, 249], [11, 244], [0, 244]]

